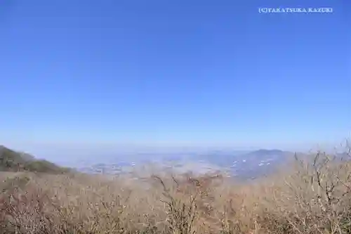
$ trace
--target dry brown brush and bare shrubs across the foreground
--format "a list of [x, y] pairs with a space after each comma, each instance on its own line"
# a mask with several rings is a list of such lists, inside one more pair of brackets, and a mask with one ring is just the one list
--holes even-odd
[[290, 168], [250, 184], [3, 174], [0, 233], [351, 233], [351, 164], [319, 152]]

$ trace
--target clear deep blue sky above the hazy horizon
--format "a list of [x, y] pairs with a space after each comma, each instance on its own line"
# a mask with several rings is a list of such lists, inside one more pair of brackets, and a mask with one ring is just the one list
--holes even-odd
[[[279, 6], [333, 13], [258, 13]], [[351, 129], [350, 8], [1, 1], [0, 143], [339, 143]]]

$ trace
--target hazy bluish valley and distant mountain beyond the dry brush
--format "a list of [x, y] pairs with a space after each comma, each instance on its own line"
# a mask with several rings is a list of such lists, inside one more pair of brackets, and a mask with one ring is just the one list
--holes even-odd
[[[153, 165], [158, 169], [202, 174], [225, 171], [238, 178], [256, 178], [270, 174], [293, 158], [293, 152], [282, 150], [255, 150], [251, 152], [172, 152], [162, 154], [138, 154], [109, 157], [110, 162], [81, 164], [77, 169], [93, 174], [123, 174]], [[101, 158], [101, 157], [100, 157]], [[124, 160], [118, 160], [123, 158]], [[126, 160], [128, 159], [128, 160]]]

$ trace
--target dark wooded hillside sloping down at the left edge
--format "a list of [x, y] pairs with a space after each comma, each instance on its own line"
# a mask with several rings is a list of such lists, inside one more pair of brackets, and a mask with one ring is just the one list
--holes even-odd
[[35, 171], [49, 174], [62, 174], [70, 169], [59, 167], [46, 160], [36, 160], [24, 152], [16, 152], [0, 145], [0, 171]]

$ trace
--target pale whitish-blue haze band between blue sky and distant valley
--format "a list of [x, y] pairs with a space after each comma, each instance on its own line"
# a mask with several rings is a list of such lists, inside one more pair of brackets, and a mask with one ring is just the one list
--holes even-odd
[[[343, 144], [344, 143], [344, 144]], [[88, 144], [88, 143], [20, 143], [17, 145], [8, 143], [4, 145], [13, 150], [20, 150], [30, 153], [37, 158], [51, 160], [53, 162], [74, 162], [77, 160], [97, 160], [96, 162], [105, 162], [106, 160], [128, 159], [131, 157], [140, 157], [140, 159], [147, 159], [148, 157], [170, 156], [173, 154], [196, 154], [212, 152], [229, 153], [230, 155], [237, 155], [246, 152], [253, 152], [256, 150], [283, 150], [289, 152], [316, 152], [317, 150], [325, 150], [326, 152], [336, 152], [336, 150], [343, 149], [345, 141], [336, 145], [300, 145], [300, 147], [241, 147], [239, 145], [142, 145], [142, 144]], [[123, 158], [124, 157], [124, 158]]]

